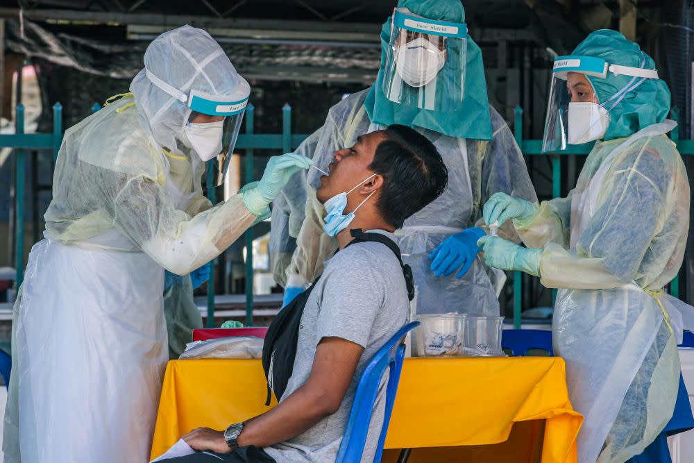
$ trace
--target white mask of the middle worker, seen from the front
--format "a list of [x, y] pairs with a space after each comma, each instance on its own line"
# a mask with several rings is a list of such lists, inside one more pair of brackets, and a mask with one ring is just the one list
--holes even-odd
[[433, 81], [446, 62], [443, 51], [422, 37], [400, 47], [395, 59], [400, 78], [411, 87], [423, 87]]

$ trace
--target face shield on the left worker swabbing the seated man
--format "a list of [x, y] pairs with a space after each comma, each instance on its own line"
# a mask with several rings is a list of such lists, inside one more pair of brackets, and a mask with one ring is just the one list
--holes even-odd
[[[178, 136], [181, 142], [205, 162], [211, 162], [216, 170], [215, 185], [226, 181], [226, 174], [231, 163], [236, 140], [239, 137], [244, 112], [248, 105], [251, 87], [241, 77], [234, 95], [211, 95], [198, 90], [190, 90], [187, 94], [165, 83], [160, 78], [146, 71], [152, 83], [167, 92], [182, 103], [186, 103], [187, 112], [185, 124]], [[219, 118], [205, 123], [190, 121], [194, 112]], [[223, 118], [223, 119], [222, 119]]]

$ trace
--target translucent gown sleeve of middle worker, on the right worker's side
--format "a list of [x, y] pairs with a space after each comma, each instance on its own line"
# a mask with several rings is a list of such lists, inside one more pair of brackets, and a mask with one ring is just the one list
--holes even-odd
[[[489, 201], [494, 193], [504, 192], [531, 203], [537, 202], [537, 195], [532, 186], [530, 175], [527, 173], [523, 153], [516, 144], [514, 134], [511, 133], [511, 129], [496, 110], [491, 108], [490, 112], [494, 133], [491, 142], [486, 144], [486, 149], [482, 154], [484, 156], [482, 159], [482, 185], [480, 204], [477, 207], [479, 217], [475, 217], [475, 226], [484, 225], [482, 205]], [[516, 244], [521, 242], [521, 238], [518, 237], [511, 221], [507, 221], [499, 227], [498, 235]]]

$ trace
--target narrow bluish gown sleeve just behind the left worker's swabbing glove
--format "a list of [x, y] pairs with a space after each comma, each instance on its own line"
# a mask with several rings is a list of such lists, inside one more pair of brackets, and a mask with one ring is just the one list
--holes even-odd
[[[309, 135], [298, 148], [296, 154], [313, 158], [323, 127]], [[306, 217], [306, 171], [291, 176], [279, 196], [272, 203], [270, 226], [270, 265], [276, 283], [287, 286], [287, 267], [296, 249], [301, 224]]]

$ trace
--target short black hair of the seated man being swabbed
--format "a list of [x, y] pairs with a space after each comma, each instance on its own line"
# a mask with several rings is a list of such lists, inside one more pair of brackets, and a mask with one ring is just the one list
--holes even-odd
[[448, 169], [436, 146], [414, 129], [400, 124], [383, 131], [369, 170], [383, 177], [376, 209], [396, 228], [437, 199], [448, 183]]

